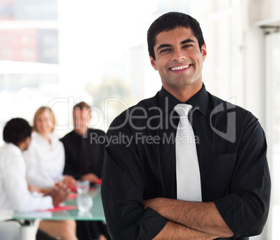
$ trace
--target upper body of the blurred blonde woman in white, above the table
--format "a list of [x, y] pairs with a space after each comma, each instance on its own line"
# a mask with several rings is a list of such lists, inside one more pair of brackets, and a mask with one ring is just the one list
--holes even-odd
[[23, 152], [26, 161], [26, 179], [42, 189], [52, 188], [56, 182], [74, 187], [74, 177], [63, 176], [65, 153], [63, 143], [54, 136], [56, 119], [52, 109], [41, 106], [33, 118], [29, 148]]

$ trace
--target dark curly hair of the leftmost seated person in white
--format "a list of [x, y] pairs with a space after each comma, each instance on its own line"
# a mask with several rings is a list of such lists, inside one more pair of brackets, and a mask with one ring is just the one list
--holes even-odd
[[27, 137], [31, 136], [32, 127], [23, 118], [13, 118], [9, 120], [3, 129], [3, 141], [13, 143], [17, 147]]

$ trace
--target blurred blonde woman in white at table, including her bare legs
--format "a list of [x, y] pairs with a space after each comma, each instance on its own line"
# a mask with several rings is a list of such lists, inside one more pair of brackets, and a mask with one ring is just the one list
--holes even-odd
[[[55, 126], [52, 109], [41, 106], [33, 119], [34, 132], [28, 150], [23, 152], [26, 161], [26, 179], [30, 191], [45, 193], [57, 184], [75, 186], [73, 177], [64, 175], [65, 153], [63, 144], [52, 133]], [[61, 240], [77, 240], [76, 223], [67, 221], [41, 221], [39, 229]]]

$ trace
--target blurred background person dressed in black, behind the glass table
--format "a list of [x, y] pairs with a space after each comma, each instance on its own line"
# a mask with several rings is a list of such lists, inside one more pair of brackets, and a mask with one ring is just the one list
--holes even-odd
[[[61, 138], [65, 149], [64, 174], [75, 179], [88, 180], [91, 184], [102, 177], [104, 144], [98, 137], [104, 131], [88, 128], [91, 121], [91, 108], [86, 102], [73, 107], [74, 130]], [[78, 239], [107, 239], [107, 227], [101, 221], [77, 221]], [[107, 236], [107, 237], [105, 237]]]

